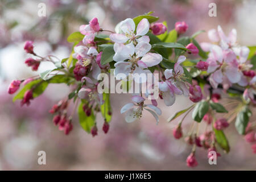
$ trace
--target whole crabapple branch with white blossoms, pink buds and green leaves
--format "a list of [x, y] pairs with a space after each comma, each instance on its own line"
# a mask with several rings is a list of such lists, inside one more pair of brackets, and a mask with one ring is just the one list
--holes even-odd
[[[114, 114], [110, 93], [98, 92], [102, 82], [98, 76], [110, 75], [110, 69], [114, 69], [115, 80], [121, 81], [131, 73], [158, 73], [157, 83], [147, 86], [146, 93], [133, 94], [132, 102], [122, 107], [121, 114], [126, 113], [126, 122], [140, 119], [145, 110], [159, 122], [158, 115], [162, 111], [158, 102], [163, 100], [166, 106], [172, 106], [176, 95], [184, 95], [194, 104], [172, 115], [168, 122], [183, 116], [173, 131], [176, 139], [183, 138], [183, 121], [192, 112], [191, 130], [184, 136], [185, 142], [192, 146], [187, 166], [197, 166], [199, 147], [208, 150], [207, 154], [215, 151], [220, 156], [217, 148], [228, 153], [230, 146], [224, 130], [233, 122], [256, 153], [256, 123], [249, 122], [250, 110], [256, 104], [256, 47], [241, 46], [237, 43], [236, 30], [226, 36], [220, 26], [208, 31], [210, 43], [199, 44], [196, 36], [204, 31], [182, 36], [188, 29], [185, 22], [175, 23], [175, 28], [168, 31], [166, 22], [155, 23], [158, 19], [151, 13], [127, 18], [117, 24], [114, 32], [100, 27], [97, 18], [93, 18], [89, 24], [81, 25], [78, 32], [69, 35], [67, 40], [73, 43], [71, 55], [59, 61], [54, 61], [53, 56], [37, 55], [33, 42], [27, 41], [24, 49], [32, 56], [25, 61], [28, 67], [36, 71], [42, 61], [50, 61], [56, 68], [26, 80], [13, 81], [8, 92], [14, 94], [23, 86], [13, 98], [21, 100], [23, 106], [30, 105], [49, 84], [71, 86], [68, 96], [49, 111], [54, 114], [53, 123], [68, 135], [77, 111], [81, 127], [94, 137], [98, 133], [97, 113], [104, 118], [104, 133], [108, 133]], [[134, 81], [141, 84], [147, 77], [144, 80], [134, 78]], [[159, 99], [153, 96], [154, 85], [158, 85]], [[146, 104], [150, 96], [151, 104]], [[69, 113], [71, 102], [74, 108]], [[204, 133], [199, 133], [202, 121], [207, 127]]]

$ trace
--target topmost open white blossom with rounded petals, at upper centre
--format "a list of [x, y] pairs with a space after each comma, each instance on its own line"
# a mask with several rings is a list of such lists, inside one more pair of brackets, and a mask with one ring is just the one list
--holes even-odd
[[119, 29], [122, 34], [110, 34], [109, 38], [115, 43], [126, 43], [127, 40], [133, 42], [137, 40], [137, 42], [145, 41], [149, 42], [148, 36], [145, 36], [150, 28], [150, 24], [146, 18], [143, 18], [141, 22], [139, 22], [135, 31], [135, 23], [133, 19], [127, 18], [119, 23]]

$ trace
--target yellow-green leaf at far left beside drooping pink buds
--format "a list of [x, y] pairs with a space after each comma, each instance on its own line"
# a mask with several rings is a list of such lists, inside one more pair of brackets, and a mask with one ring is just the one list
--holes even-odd
[[[41, 82], [41, 83], [40, 83]], [[38, 80], [34, 80], [29, 82], [28, 84], [26, 84], [22, 90], [20, 90], [20, 92], [18, 94], [16, 94], [16, 96], [14, 96], [13, 98], [13, 102], [15, 102], [18, 99], [23, 99], [24, 93], [27, 90], [30, 90], [32, 87], [36, 86], [33, 90], [33, 97], [38, 97], [40, 96], [40, 94], [42, 94], [44, 92], [44, 90], [47, 88], [48, 82], [47, 81], [43, 81], [42, 79], [38, 79]]]

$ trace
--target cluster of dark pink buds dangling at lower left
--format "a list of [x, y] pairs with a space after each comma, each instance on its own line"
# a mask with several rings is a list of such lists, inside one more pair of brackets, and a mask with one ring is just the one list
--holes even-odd
[[49, 110], [49, 113], [56, 114], [52, 121], [57, 126], [59, 126], [60, 131], [64, 131], [65, 135], [68, 135], [72, 129], [72, 117], [67, 118], [67, 107], [68, 101], [61, 100], [58, 104], [52, 106], [52, 109]]

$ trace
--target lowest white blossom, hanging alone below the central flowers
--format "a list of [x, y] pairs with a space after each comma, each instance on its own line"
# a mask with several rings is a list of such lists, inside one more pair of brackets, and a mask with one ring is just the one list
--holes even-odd
[[[150, 112], [156, 119], [156, 122], [159, 121], [158, 115], [161, 115], [162, 111], [158, 107], [156, 107], [152, 104], [144, 104], [145, 99], [141, 96], [133, 96], [133, 97], [131, 97], [131, 100], [133, 102], [130, 102], [130, 103], [124, 105], [120, 111], [121, 114], [123, 114], [127, 111], [127, 113], [125, 115], [126, 122], [130, 123], [130, 122], [134, 122], [136, 119], [140, 119], [142, 117], [143, 109]], [[150, 110], [150, 109], [152, 109], [152, 110]]]

